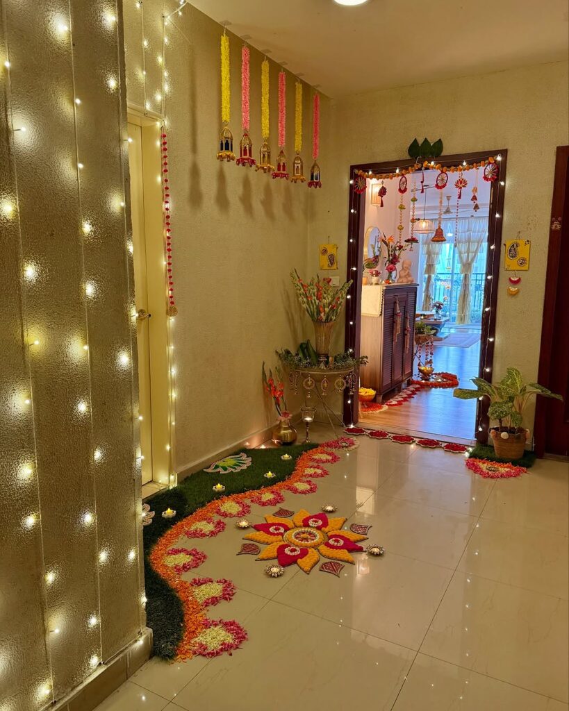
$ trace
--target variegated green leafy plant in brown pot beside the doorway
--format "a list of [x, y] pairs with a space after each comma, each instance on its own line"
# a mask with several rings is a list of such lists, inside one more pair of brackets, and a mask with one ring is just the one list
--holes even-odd
[[496, 455], [503, 459], [520, 459], [523, 455], [529, 430], [521, 424], [533, 395], [563, 400], [561, 395], [556, 395], [539, 383], [524, 383], [517, 368], [506, 368], [506, 375], [499, 383], [488, 383], [483, 378], [472, 378], [472, 383], [476, 385], [476, 390], [457, 387], [452, 394], [460, 400], [472, 400], [474, 397], [489, 399], [488, 416], [498, 422], [498, 427], [491, 427], [490, 437]]

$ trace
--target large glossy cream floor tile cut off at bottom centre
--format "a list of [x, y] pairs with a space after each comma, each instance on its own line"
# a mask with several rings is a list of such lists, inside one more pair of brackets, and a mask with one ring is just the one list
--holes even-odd
[[275, 602], [250, 641], [212, 660], [176, 697], [184, 710], [373, 708], [388, 711], [415, 653]]

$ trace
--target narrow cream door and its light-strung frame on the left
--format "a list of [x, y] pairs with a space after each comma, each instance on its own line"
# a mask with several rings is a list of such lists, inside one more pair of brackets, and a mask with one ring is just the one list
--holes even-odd
[[161, 122], [128, 113], [142, 498], [174, 483], [174, 368], [168, 311]]

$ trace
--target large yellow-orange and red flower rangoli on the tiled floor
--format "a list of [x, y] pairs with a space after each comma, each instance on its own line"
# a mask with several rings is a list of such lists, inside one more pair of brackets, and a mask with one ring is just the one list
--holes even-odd
[[365, 535], [341, 530], [346, 518], [329, 518], [325, 513], [309, 513], [304, 509], [295, 513], [292, 520], [268, 515], [265, 521], [255, 524], [254, 533], [245, 536], [246, 540], [267, 545], [257, 560], [276, 558], [282, 567], [296, 563], [305, 573], [317, 565], [321, 555], [353, 563], [351, 553], [362, 551], [358, 542], [366, 540]]

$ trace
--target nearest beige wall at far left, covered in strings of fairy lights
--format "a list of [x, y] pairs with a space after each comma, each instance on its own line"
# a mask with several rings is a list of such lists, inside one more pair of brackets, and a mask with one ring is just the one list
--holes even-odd
[[144, 626], [126, 107], [115, 3], [0, 12], [0, 707], [31, 711]]

